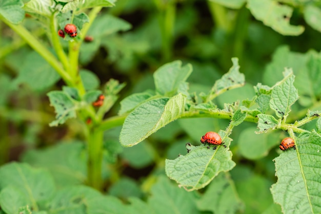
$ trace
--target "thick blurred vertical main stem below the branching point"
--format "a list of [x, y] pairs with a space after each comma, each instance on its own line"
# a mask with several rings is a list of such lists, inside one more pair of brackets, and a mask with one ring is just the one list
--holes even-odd
[[104, 132], [95, 129], [89, 130], [88, 136], [88, 185], [97, 190], [102, 188], [102, 161], [103, 161]]

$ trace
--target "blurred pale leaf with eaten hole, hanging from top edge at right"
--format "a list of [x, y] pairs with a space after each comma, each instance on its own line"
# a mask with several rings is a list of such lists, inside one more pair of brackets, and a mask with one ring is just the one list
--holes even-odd
[[247, 7], [256, 19], [280, 34], [296, 36], [304, 31], [303, 26], [290, 25], [293, 9], [287, 5], [273, 0], [248, 0]]

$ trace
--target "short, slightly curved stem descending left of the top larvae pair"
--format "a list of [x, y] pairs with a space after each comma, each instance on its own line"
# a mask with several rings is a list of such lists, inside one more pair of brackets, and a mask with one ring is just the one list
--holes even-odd
[[59, 60], [63, 63], [63, 66], [66, 71], [68, 71], [69, 61], [67, 55], [59, 41], [58, 33], [57, 33], [57, 24], [55, 19], [55, 13], [53, 13], [50, 17], [50, 31], [51, 31], [51, 41], [52, 46], [59, 58]]

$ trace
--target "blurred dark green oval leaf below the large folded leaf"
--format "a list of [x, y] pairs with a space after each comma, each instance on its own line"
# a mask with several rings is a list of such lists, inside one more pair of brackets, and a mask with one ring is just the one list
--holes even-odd
[[143, 168], [153, 163], [155, 152], [150, 144], [139, 143], [136, 146], [124, 148], [121, 157], [128, 162], [128, 165]]

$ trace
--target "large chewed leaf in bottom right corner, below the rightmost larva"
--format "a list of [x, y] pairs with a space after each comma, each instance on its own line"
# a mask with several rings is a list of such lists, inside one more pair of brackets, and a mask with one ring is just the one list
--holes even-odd
[[321, 213], [321, 136], [314, 131], [295, 139], [296, 150], [275, 158], [277, 182], [271, 192], [284, 213]]

